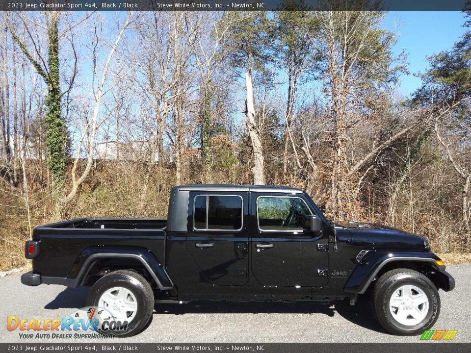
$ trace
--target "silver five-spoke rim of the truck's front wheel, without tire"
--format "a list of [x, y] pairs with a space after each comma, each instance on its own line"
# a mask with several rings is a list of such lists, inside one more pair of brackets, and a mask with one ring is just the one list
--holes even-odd
[[427, 316], [428, 306], [425, 292], [410, 284], [399, 287], [389, 300], [392, 317], [405, 326], [414, 326], [422, 322]]

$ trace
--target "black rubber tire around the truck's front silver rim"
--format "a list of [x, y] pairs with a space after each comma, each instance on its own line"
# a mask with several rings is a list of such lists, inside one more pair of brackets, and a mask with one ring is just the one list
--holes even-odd
[[[390, 310], [392, 295], [403, 285], [413, 285], [424, 292], [428, 299], [428, 311], [416, 325], [403, 325]], [[373, 313], [383, 328], [395, 335], [418, 335], [431, 328], [440, 314], [440, 295], [430, 279], [409, 269], [395, 269], [386, 272], [376, 282], [372, 298]], [[425, 309], [423, 309], [425, 310]]]

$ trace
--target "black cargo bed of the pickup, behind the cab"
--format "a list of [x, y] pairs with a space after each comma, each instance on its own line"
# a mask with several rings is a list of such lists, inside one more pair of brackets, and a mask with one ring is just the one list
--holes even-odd
[[40, 241], [33, 270], [49, 277], [75, 278], [88, 248], [142, 249], [163, 261], [167, 220], [158, 218], [78, 218], [36, 227]]

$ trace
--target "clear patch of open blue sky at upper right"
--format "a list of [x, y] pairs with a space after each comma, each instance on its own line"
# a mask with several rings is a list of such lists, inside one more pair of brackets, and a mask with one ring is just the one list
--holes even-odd
[[403, 75], [399, 92], [408, 96], [420, 86], [420, 78], [413, 76], [428, 68], [426, 57], [451, 49], [467, 28], [460, 11], [391, 11], [383, 25], [398, 34], [396, 53], [405, 50], [410, 75]]

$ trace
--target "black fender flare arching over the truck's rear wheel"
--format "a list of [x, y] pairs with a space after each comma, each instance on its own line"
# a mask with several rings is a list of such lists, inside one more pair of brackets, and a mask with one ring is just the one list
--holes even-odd
[[167, 272], [152, 252], [143, 248], [128, 247], [126, 249], [120, 247], [90, 247], [84, 249], [77, 257], [64, 285], [67, 287], [82, 285], [93, 263], [103, 258], [132, 258], [138, 260], [156, 281], [160, 290], [170, 290], [174, 286]]

